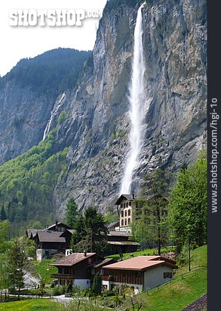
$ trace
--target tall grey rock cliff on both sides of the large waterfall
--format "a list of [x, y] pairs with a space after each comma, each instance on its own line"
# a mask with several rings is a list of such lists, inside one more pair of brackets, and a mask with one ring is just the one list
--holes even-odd
[[[59, 213], [69, 196], [82, 209], [105, 211], [118, 194], [130, 148], [127, 96], [137, 9], [123, 5], [103, 17], [94, 72], [70, 98], [72, 117], [58, 134], [61, 142], [72, 138], [69, 171], [55, 189]], [[206, 1], [147, 1], [143, 17], [146, 131], [134, 191], [152, 169], [193, 162], [206, 142]]]

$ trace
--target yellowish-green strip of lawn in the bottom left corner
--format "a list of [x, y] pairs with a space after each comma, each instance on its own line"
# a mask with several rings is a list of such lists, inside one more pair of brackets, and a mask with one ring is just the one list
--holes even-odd
[[8, 303], [0, 303], [0, 310], [47, 310], [59, 311], [61, 310], [60, 304], [51, 301], [50, 299], [27, 299], [22, 301], [13, 301]]

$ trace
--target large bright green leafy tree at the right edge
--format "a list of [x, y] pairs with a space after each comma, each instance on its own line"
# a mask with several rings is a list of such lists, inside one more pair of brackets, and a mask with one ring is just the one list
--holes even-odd
[[207, 223], [207, 162], [206, 153], [177, 176], [170, 191], [169, 220], [179, 249], [188, 237], [192, 243], [206, 241]]

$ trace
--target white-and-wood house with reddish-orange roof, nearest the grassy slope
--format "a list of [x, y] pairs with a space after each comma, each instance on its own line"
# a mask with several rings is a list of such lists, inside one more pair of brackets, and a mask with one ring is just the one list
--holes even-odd
[[173, 278], [175, 261], [162, 256], [137, 256], [103, 267], [103, 287], [112, 290], [115, 285], [128, 285], [135, 293], [150, 290]]

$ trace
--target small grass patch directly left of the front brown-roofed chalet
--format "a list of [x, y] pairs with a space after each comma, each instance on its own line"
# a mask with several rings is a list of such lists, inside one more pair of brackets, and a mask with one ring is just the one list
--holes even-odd
[[51, 263], [55, 262], [55, 259], [44, 259], [44, 261], [35, 261], [34, 265], [37, 269], [37, 272], [44, 280], [46, 284], [50, 284], [53, 279], [51, 279], [52, 273], [58, 273], [58, 268], [53, 267], [50, 265]]

